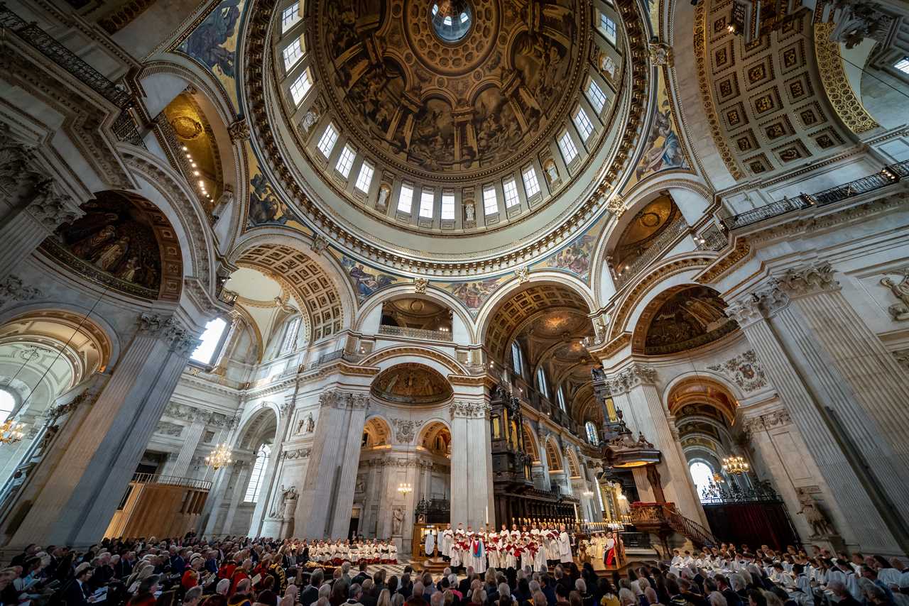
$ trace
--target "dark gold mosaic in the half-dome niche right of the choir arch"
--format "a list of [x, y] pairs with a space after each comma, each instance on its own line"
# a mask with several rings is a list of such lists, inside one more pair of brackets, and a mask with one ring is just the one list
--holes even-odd
[[646, 328], [644, 353], [677, 353], [711, 343], [738, 326], [712, 288], [693, 286], [671, 295]]

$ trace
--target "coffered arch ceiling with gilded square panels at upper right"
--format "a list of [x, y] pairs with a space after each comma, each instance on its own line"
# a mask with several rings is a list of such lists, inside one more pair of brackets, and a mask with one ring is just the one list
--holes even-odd
[[701, 94], [730, 173], [764, 176], [842, 151], [848, 135], [816, 68], [813, 14], [745, 44], [729, 29], [732, 6], [699, 5], [694, 32]]

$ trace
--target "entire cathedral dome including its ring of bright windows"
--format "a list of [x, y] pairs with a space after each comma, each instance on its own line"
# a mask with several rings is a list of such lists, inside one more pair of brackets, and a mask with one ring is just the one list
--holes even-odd
[[315, 0], [298, 22], [276, 14], [278, 103], [254, 127], [274, 138], [288, 214], [324, 214], [399, 267], [562, 241], [632, 155], [636, 18], [591, 0]]

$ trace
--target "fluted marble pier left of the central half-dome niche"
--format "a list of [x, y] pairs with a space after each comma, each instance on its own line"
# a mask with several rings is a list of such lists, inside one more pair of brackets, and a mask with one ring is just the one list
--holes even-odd
[[299, 536], [347, 536], [369, 396], [328, 390], [319, 396], [319, 421], [296, 506]]

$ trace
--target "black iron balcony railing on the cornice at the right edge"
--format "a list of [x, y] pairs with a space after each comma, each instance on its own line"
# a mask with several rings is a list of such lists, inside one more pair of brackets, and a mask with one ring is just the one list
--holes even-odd
[[779, 216], [781, 214], [799, 211], [812, 206], [824, 206], [834, 204], [842, 200], [848, 200], [856, 195], [868, 194], [875, 190], [882, 189], [887, 185], [897, 183], [904, 178], [909, 177], [909, 160], [897, 164], [885, 166], [879, 173], [869, 174], [860, 179], [854, 179], [848, 183], [836, 185], [825, 189], [816, 194], [799, 194], [794, 198], [784, 197], [770, 204], [765, 204], [758, 208], [753, 208], [744, 213], [735, 214], [723, 219], [723, 224], [727, 230], [734, 230], [746, 225], [753, 225]]

